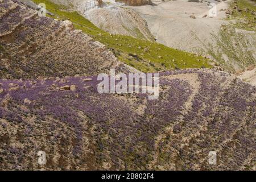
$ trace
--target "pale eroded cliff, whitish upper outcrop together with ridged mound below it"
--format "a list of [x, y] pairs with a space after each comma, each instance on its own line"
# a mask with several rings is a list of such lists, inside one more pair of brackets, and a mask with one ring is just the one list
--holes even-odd
[[[79, 11], [82, 16], [104, 31], [111, 34], [129, 35], [134, 38], [154, 40], [154, 36], [142, 19], [134, 10], [125, 7], [123, 1], [114, 0], [50, 0], [60, 5], [69, 6]], [[146, 1], [145, 1], [146, 2]], [[144, 1], [137, 5], [144, 4]], [[134, 3], [134, 2], [133, 2]]]

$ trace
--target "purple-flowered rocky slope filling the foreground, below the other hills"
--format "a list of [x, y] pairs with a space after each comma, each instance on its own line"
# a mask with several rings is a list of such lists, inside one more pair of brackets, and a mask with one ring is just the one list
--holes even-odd
[[208, 69], [166, 72], [148, 100], [99, 94], [96, 79], [0, 80], [0, 169], [255, 167], [255, 87]]

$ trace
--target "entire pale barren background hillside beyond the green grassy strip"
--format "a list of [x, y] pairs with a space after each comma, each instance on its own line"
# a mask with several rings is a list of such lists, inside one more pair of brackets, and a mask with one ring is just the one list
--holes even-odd
[[[253, 1], [49, 1], [79, 11], [111, 34], [156, 40], [170, 48], [205, 56], [213, 60], [212, 65], [218, 69], [235, 73], [256, 85], [246, 72], [256, 64], [256, 6]], [[130, 64], [141, 68], [136, 63]], [[159, 65], [156, 67], [156, 71], [166, 70]], [[255, 77], [256, 68], [253, 72]]]

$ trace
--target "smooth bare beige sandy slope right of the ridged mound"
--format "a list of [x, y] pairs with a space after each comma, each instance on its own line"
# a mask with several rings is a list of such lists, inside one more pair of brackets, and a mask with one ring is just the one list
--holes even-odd
[[[214, 1], [214, 3], [218, 3]], [[226, 8], [222, 2], [217, 9]], [[159, 43], [189, 52], [200, 53], [207, 43], [213, 42], [211, 34], [218, 34], [221, 24], [226, 21], [225, 12], [210, 18], [207, 3], [187, 2], [184, 0], [162, 2], [157, 6], [130, 7], [139, 13], [148, 23], [151, 33]], [[194, 15], [195, 19], [189, 16]], [[205, 18], [202, 16], [207, 15]]]

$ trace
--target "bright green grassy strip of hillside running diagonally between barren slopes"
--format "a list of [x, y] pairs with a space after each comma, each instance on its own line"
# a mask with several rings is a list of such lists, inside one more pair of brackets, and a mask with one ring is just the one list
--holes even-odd
[[33, 0], [45, 3], [46, 9], [55, 14], [51, 18], [70, 20], [74, 27], [105, 44], [120, 61], [142, 72], [166, 71], [184, 68], [211, 68], [210, 60], [193, 53], [179, 51], [156, 42], [136, 39], [125, 35], [112, 35], [94, 26], [79, 13], [68, 11], [67, 7], [56, 5], [48, 0]]

